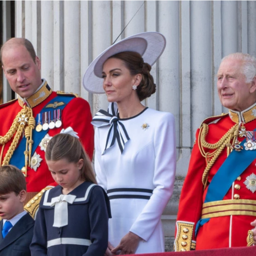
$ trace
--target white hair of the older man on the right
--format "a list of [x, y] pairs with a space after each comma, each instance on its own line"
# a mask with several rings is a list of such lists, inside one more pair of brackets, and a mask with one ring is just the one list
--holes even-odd
[[247, 53], [236, 52], [225, 56], [221, 62], [228, 59], [241, 61], [241, 73], [245, 76], [246, 82], [250, 83], [253, 81], [253, 78], [256, 76], [256, 58], [254, 56]]

